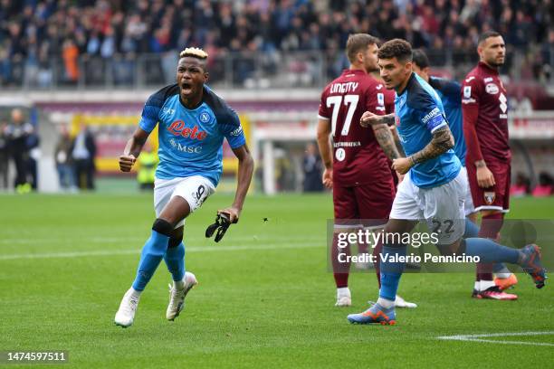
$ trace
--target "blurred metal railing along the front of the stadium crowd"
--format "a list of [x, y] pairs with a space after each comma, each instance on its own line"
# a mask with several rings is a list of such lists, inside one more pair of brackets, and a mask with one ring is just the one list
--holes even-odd
[[[477, 62], [476, 52], [452, 48], [427, 50], [431, 64], [461, 80]], [[511, 80], [525, 74], [523, 52], [510, 52], [504, 72]], [[349, 66], [342, 51], [214, 52], [208, 61], [210, 81], [217, 87], [247, 89], [321, 88]], [[0, 86], [24, 90], [140, 90], [175, 80], [177, 52], [116, 54], [110, 58], [81, 55], [77, 78], [69, 78], [61, 59], [6, 60]], [[554, 83], [554, 80], [551, 80]]]

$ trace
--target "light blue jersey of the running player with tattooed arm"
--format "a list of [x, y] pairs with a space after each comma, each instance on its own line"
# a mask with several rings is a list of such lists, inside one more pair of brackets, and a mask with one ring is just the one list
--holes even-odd
[[[406, 89], [396, 94], [397, 131], [406, 156], [416, 154], [427, 146], [436, 129], [447, 125], [441, 99], [425, 80], [412, 73]], [[431, 188], [452, 181], [462, 165], [453, 149], [410, 169], [414, 185]]]

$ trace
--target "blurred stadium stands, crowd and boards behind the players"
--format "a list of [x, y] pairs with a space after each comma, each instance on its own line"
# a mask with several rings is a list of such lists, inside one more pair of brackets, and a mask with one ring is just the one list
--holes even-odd
[[[432, 74], [462, 80], [479, 35], [494, 29], [507, 47], [512, 194], [549, 195], [553, 9], [552, 0], [0, 0], [0, 189], [30, 192], [37, 173], [45, 191], [101, 188], [94, 175], [119, 174], [146, 96], [174, 83], [178, 53], [196, 46], [209, 54], [210, 85], [264, 132], [250, 135], [263, 190], [274, 180], [278, 192], [321, 191], [308, 127], [321, 88], [349, 67], [350, 33], [404, 38], [427, 53]], [[139, 188], [151, 188], [156, 147], [139, 159]]]

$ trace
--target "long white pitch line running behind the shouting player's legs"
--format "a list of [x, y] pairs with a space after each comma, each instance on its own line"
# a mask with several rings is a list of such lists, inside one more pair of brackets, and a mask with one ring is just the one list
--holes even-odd
[[[187, 252], [227, 252], [227, 251], [257, 251], [257, 250], [289, 250], [289, 249], [313, 249], [325, 246], [325, 242], [301, 242], [287, 244], [265, 244], [258, 246], [232, 245], [226, 247], [187, 247]], [[112, 256], [112, 255], [133, 255], [139, 254], [139, 249], [134, 250], [112, 250], [112, 251], [73, 251], [73, 252], [49, 252], [36, 254], [13, 254], [0, 255], [2, 260], [18, 260], [18, 259], [57, 259], [57, 258], [80, 258], [84, 256]]]

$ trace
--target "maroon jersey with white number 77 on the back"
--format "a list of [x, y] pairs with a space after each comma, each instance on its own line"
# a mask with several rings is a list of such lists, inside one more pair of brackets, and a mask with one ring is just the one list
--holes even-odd
[[321, 119], [329, 119], [333, 145], [333, 183], [366, 185], [390, 180], [387, 156], [372, 128], [359, 119], [365, 111], [385, 114], [385, 87], [364, 71], [346, 70], [321, 93]]

